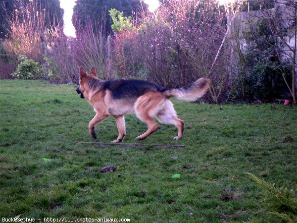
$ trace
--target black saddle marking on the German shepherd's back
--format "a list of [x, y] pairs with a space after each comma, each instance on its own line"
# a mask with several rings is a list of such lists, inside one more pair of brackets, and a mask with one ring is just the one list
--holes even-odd
[[152, 92], [164, 92], [167, 88], [163, 88], [157, 84], [152, 82], [144, 81], [144, 80], [124, 80], [124, 79], [115, 79], [115, 80], [108, 80], [103, 85], [103, 89], [110, 90], [111, 96], [114, 99], [121, 99], [121, 98], [138, 98], [148, 91]]

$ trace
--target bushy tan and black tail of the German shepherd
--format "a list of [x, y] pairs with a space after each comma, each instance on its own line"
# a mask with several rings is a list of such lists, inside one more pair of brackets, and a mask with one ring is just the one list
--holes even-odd
[[209, 79], [201, 77], [190, 85], [182, 88], [168, 89], [164, 93], [168, 98], [174, 97], [186, 101], [195, 101], [205, 94], [209, 88], [209, 84]]

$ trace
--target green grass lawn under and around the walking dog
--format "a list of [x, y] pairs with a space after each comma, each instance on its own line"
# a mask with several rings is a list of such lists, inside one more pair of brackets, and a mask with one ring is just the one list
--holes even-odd
[[[185, 121], [184, 138], [172, 141], [177, 129], [160, 124], [140, 143], [185, 148], [97, 147], [81, 143], [94, 142], [88, 123], [95, 112], [76, 87], [0, 80], [1, 218], [264, 221], [262, 212], [254, 214], [262, 208], [263, 192], [246, 172], [296, 188], [296, 106], [172, 100]], [[139, 143], [134, 138], [146, 128], [126, 115], [124, 142]], [[117, 137], [112, 117], [96, 130], [98, 142]], [[105, 166], [117, 169], [94, 171]], [[176, 173], [181, 177], [173, 179]]]

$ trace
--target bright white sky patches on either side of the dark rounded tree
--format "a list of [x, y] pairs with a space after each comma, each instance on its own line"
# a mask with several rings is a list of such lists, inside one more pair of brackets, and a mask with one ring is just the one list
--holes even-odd
[[[60, 6], [64, 9], [64, 34], [66, 36], [76, 37], [75, 28], [72, 24], [73, 7], [76, 0], [60, 0]], [[148, 10], [153, 12], [158, 6], [158, 0], [144, 0], [148, 4]]]

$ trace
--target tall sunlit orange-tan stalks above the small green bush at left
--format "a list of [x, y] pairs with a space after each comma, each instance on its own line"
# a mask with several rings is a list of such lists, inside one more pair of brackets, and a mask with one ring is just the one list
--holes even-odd
[[57, 21], [52, 26], [46, 24], [48, 12], [38, 6], [38, 1], [15, 0], [18, 8], [12, 13], [10, 31], [5, 49], [11, 55], [26, 55], [38, 62], [43, 61], [46, 54], [48, 41], [62, 33], [62, 27]]

